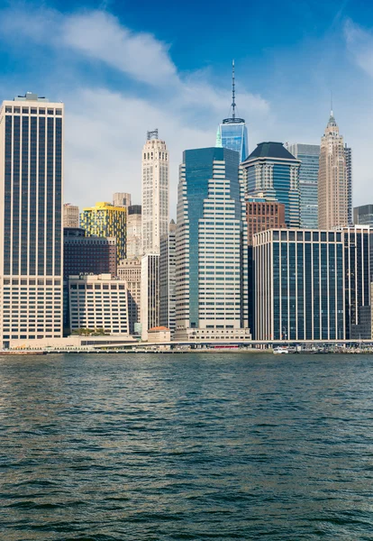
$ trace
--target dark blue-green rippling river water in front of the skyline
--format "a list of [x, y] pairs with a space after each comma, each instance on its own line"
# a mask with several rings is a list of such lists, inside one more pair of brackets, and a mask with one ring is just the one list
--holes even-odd
[[373, 539], [373, 355], [0, 357], [5, 541]]

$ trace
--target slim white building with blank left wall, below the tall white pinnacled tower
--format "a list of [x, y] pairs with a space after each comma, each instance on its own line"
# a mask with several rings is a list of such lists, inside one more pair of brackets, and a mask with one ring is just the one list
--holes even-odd
[[148, 340], [149, 329], [159, 326], [159, 254], [141, 258], [141, 338]]

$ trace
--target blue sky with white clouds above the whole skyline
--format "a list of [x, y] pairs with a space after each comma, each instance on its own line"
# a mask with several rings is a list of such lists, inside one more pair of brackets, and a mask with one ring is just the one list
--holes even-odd
[[214, 145], [238, 114], [261, 141], [318, 143], [330, 108], [353, 151], [354, 204], [373, 202], [373, 3], [133, 0], [0, 3], [0, 97], [66, 104], [65, 200], [141, 199], [141, 147], [159, 128], [171, 209], [187, 148]]

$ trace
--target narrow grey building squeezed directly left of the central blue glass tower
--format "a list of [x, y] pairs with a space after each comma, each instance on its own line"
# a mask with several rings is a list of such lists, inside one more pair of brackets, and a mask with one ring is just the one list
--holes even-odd
[[159, 256], [159, 325], [175, 333], [176, 224], [169, 223], [168, 234], [160, 238]]

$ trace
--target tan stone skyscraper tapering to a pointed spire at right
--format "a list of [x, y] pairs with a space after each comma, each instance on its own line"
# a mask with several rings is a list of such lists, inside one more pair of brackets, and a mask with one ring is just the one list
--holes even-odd
[[332, 111], [320, 147], [318, 201], [321, 229], [349, 225], [346, 151]]

